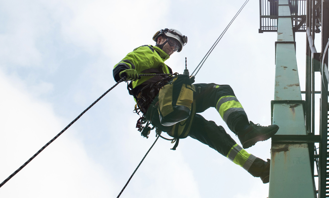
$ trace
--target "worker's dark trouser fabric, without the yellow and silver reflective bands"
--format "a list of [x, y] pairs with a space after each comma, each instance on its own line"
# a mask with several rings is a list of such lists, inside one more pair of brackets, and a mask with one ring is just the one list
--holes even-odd
[[[207, 144], [226, 157], [236, 142], [226, 133], [222, 126], [218, 126], [214, 121], [204, 119], [197, 113], [201, 113], [209, 107], [216, 108], [218, 100], [223, 96], [235, 96], [233, 89], [229, 85], [216, 85], [213, 83], [194, 84], [194, 86], [196, 114], [194, 115], [189, 136]], [[231, 131], [236, 133], [237, 126], [248, 124], [248, 122], [246, 113], [244, 111], [237, 111], [229, 115], [226, 124]]]

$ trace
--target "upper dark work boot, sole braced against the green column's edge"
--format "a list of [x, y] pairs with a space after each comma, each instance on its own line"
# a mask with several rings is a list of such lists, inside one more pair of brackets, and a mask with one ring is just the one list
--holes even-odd
[[244, 149], [255, 145], [259, 141], [265, 141], [272, 137], [279, 130], [279, 126], [272, 124], [261, 126], [250, 121], [248, 128], [238, 132], [238, 138]]

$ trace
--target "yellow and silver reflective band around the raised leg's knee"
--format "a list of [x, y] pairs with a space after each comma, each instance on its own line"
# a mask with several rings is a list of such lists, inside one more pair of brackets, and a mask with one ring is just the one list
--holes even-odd
[[232, 112], [244, 111], [242, 105], [235, 96], [221, 97], [216, 104], [216, 109], [225, 122]]

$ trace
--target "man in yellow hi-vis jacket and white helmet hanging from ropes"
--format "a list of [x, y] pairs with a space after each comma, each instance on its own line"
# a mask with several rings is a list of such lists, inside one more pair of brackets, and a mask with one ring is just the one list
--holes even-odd
[[[172, 71], [164, 61], [174, 52], [182, 50], [187, 43], [185, 35], [174, 29], [164, 29], [155, 33], [153, 40], [156, 42], [155, 46], [144, 45], [136, 48], [113, 69], [116, 81], [122, 77], [131, 80], [129, 92], [134, 96], [143, 118], [178, 140], [190, 136], [209, 145], [254, 177], [260, 177], [263, 183], [268, 183], [269, 160], [265, 162], [243, 148], [269, 139], [279, 127], [249, 122], [229, 85], [192, 84], [193, 79], [188, 75], [168, 75], [172, 74]], [[139, 78], [140, 74], [162, 76]], [[243, 148], [222, 126], [217, 126], [214, 121], [207, 121], [197, 114], [209, 107], [216, 108], [230, 130], [238, 136]]]

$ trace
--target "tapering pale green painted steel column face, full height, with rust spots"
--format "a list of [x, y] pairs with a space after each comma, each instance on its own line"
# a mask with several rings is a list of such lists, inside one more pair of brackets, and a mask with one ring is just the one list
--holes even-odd
[[[278, 1], [273, 124], [277, 135], [307, 135], [288, 0]], [[283, 136], [284, 137], [284, 136]], [[275, 138], [274, 138], [275, 139]], [[272, 142], [268, 198], [316, 197], [308, 144]]]

